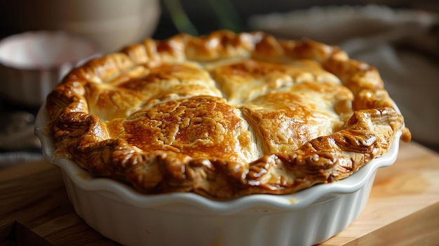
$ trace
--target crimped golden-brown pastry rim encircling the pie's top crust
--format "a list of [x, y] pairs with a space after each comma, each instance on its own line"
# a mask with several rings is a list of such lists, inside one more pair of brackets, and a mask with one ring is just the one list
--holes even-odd
[[[131, 148], [131, 144], [125, 144], [125, 140], [110, 138], [108, 140], [111, 141], [106, 141], [108, 136], [107, 133], [101, 132], [101, 129], [104, 127], [101, 125], [102, 122], [100, 121], [100, 118], [94, 114], [90, 114], [87, 106], [88, 102], [86, 101], [86, 98], [83, 98], [83, 91], [85, 91], [83, 86], [85, 83], [95, 83], [94, 79], [105, 81], [109, 76], [111, 77], [119, 73], [121, 67], [128, 66], [130, 59], [133, 60], [135, 64], [139, 62], [142, 64], [142, 62], [144, 62], [142, 60], [145, 59], [144, 56], [136, 53], [139, 52], [136, 47], [143, 46], [135, 45], [128, 46], [126, 49], [127, 53], [135, 53], [127, 57], [128, 60], [124, 60], [125, 58], [122, 59], [122, 57], [119, 57], [121, 60], [118, 60], [119, 58], [117, 58], [118, 56], [116, 54], [116, 56], [113, 57], [116, 60], [112, 60], [113, 58], [110, 58], [110, 56], [104, 57], [101, 60], [93, 60], [87, 66], [72, 71], [71, 74], [66, 76], [64, 84], [60, 85], [57, 90], [54, 90], [53, 93], [48, 95], [46, 109], [51, 117], [48, 125], [50, 125], [52, 137], [55, 139], [57, 146], [61, 146], [61, 149], [69, 148], [68, 151], [72, 153], [72, 156], [74, 156], [76, 162], [81, 165], [81, 168], [93, 172], [95, 174], [94, 176], [109, 176], [110, 174], [110, 176], [117, 179], [121, 178], [118, 177], [119, 173], [121, 173], [123, 179], [127, 179], [127, 181], [129, 179], [129, 182], [133, 184], [136, 189], [144, 193], [150, 193], [151, 189], [154, 191], [158, 186], [158, 190], [152, 193], [156, 193], [157, 191], [158, 193], [173, 192], [175, 189], [187, 192], [187, 189], [191, 189], [191, 192], [203, 193], [208, 197], [227, 199], [246, 196], [251, 193], [294, 193], [301, 189], [309, 188], [309, 186], [313, 186], [318, 182], [326, 183], [338, 181], [339, 179], [351, 175], [352, 172], [356, 172], [358, 168], [367, 164], [371, 159], [377, 158], [386, 153], [389, 144], [394, 140], [393, 137], [396, 130], [404, 128], [403, 116], [400, 115], [400, 112], [396, 112], [394, 109], [394, 103], [391, 101], [386, 90], [384, 90], [384, 84], [374, 67], [370, 67], [363, 62], [350, 60], [342, 50], [339, 50], [337, 47], [327, 46], [323, 43], [306, 40], [298, 42], [292, 41], [292, 43], [289, 41], [286, 43], [278, 43], [276, 39], [266, 34], [258, 32], [250, 35], [256, 35], [252, 36], [254, 38], [252, 42], [255, 42], [252, 43], [252, 48], [250, 48], [252, 56], [255, 55], [258, 57], [262, 55], [262, 57], [278, 57], [278, 46], [281, 46], [281, 57], [288, 57], [291, 53], [292, 57], [298, 55], [298, 57], [301, 58], [318, 60], [320, 64], [325, 64], [324, 67], [327, 71], [330, 71], [330, 73], [339, 77], [340, 80], [343, 81], [344, 86], [347, 86], [353, 94], [355, 94], [352, 104], [356, 105], [356, 109], [353, 109], [353, 115], [349, 118], [349, 121], [346, 122], [345, 128], [342, 128], [342, 130], [339, 130], [338, 132], [334, 132], [334, 134], [327, 136], [323, 135], [322, 137], [312, 139], [299, 147], [299, 149], [292, 152], [269, 153], [252, 161], [252, 163], [248, 163], [248, 166], [239, 166], [241, 165], [241, 160], [237, 161], [236, 163], [238, 165], [236, 165], [234, 161], [230, 161], [227, 158], [210, 158], [210, 156], [207, 156], [205, 160], [208, 160], [210, 163], [208, 166], [215, 165], [212, 164], [212, 162], [221, 164], [219, 172], [225, 173], [224, 177], [221, 177], [224, 179], [222, 181], [225, 181], [228, 184], [224, 190], [222, 190], [223, 188], [216, 189], [215, 186], [212, 186], [213, 189], [210, 189], [209, 185], [207, 185], [207, 188], [200, 188], [198, 186], [198, 183], [200, 182], [198, 179], [206, 179], [208, 176], [206, 174], [198, 176], [194, 175], [194, 178], [189, 181], [189, 185], [183, 184], [189, 179], [186, 178], [186, 171], [184, 171], [184, 177], [180, 177], [182, 175], [182, 170], [189, 170], [191, 169], [191, 166], [202, 166], [201, 169], [205, 168], [204, 163], [199, 163], [199, 160], [201, 159], [194, 159], [194, 162], [192, 162], [191, 156], [189, 159], [186, 157], [174, 159], [173, 156], [167, 158], [168, 151], [163, 151], [163, 153], [147, 153], [147, 157], [143, 157], [140, 153], [134, 150], [135, 153], [131, 156], [133, 149], [126, 150], [126, 146], [129, 145]], [[236, 39], [240, 42], [246, 42], [245, 39], [243, 39], [243, 36], [234, 36], [234, 34], [230, 34], [229, 32], [215, 32], [212, 36], [203, 38], [175, 36], [174, 38], [169, 39], [168, 43], [164, 44], [164, 48], [156, 46], [159, 45], [159, 43], [156, 43], [154, 44], [156, 51], [154, 51], [154, 48], [152, 49], [154, 52], [161, 52], [161, 50], [166, 50], [166, 47], [172, 47], [171, 52], [177, 52], [180, 50], [178, 48], [180, 46], [176, 46], [177, 48], [175, 48], [174, 41], [189, 39], [193, 40], [195, 45], [199, 45], [199, 41], [201, 41], [201, 44], [206, 46], [207, 44], [205, 42], [208, 42], [210, 37], [213, 39], [227, 38], [227, 40], [231, 42], [231, 46], [234, 48], [242, 48], [242, 46], [245, 46], [241, 45], [241, 43], [236, 44]], [[154, 43], [154, 41], [151, 40], [145, 42], [144, 48], [151, 48], [153, 46], [151, 42]], [[184, 45], [183, 48], [186, 46], [191, 48], [194, 45], [194, 43], [186, 43], [186, 41], [182, 42]], [[229, 43], [226, 42], [224, 45], [226, 48], [224, 49], [229, 48], [228, 45]], [[257, 47], [259, 47], [259, 49]], [[269, 53], [266, 53], [265, 48], [269, 50]], [[273, 48], [273, 50], [271, 50], [271, 48]], [[186, 49], [184, 50], [184, 52], [189, 53]], [[215, 59], [222, 58], [224, 55], [222, 52], [225, 52], [222, 48], [219, 48], [218, 50], [216, 51], [219, 53], [215, 54], [219, 56], [217, 57], [214, 55], [216, 57]], [[157, 54], [153, 51], [149, 50], [154, 57], [154, 55]], [[163, 53], [163, 55], [166, 54], [167, 53]], [[203, 55], [210, 55], [209, 52], [206, 52], [202, 48], [200, 54], [201, 61], [203, 60]], [[241, 55], [238, 55], [238, 57], [239, 56]], [[176, 57], [178, 58], [178, 55], [176, 55]], [[227, 55], [225, 57], [227, 57]], [[166, 57], [163, 57], [163, 59], [166, 59]], [[166, 63], [166, 60], [163, 61]], [[106, 64], [105, 66], [107, 66], [107, 63], [109, 62], [110, 65], [107, 69], [110, 70], [107, 71], [104, 69], [104, 67], [101, 66], [102, 62]], [[112, 64], [112, 62], [116, 62], [116, 64]], [[125, 62], [128, 63], [125, 64]], [[156, 60], [151, 60], [151, 62], [154, 64]], [[119, 67], [119, 65], [121, 67]], [[129, 64], [128, 67], [130, 66], [131, 65]], [[78, 87], [76, 88], [76, 86]], [[64, 105], [64, 103], [67, 103], [67, 105]], [[71, 113], [73, 113], [74, 116]], [[379, 122], [384, 121], [387, 125], [384, 124], [385, 129], [378, 129], [377, 131], [375, 129], [376, 125], [374, 121], [377, 121], [378, 124]], [[78, 128], [78, 125], [76, 124], [82, 125], [83, 128]], [[82, 130], [74, 132], [74, 129], [76, 128]], [[403, 135], [405, 136], [403, 139], [404, 141], [407, 140], [407, 137], [410, 137], [409, 134], [407, 134], [407, 130], [405, 132], [403, 131]], [[67, 139], [67, 142], [73, 144], [64, 142], [64, 139]], [[69, 139], [73, 139], [74, 141], [70, 141]], [[104, 139], [104, 141], [102, 141], [102, 139]], [[109, 148], [110, 153], [115, 153], [119, 156], [105, 158], [102, 156], [102, 146]], [[67, 149], [64, 149], [60, 152], [66, 150]], [[120, 154], [121, 152], [123, 152], [123, 154]], [[94, 156], [89, 156], [89, 153]], [[231, 163], [230, 165], [229, 161]], [[142, 165], [137, 165], [137, 162], [145, 164], [147, 170], [143, 171], [137, 169], [137, 167], [142, 168]], [[170, 165], [164, 165], [164, 170], [163, 168], [157, 168], [162, 167], [163, 165], [160, 163], [163, 162], [170, 163]], [[151, 163], [155, 163], [156, 169], [153, 169], [154, 165], [149, 169]], [[237, 168], [234, 168], [235, 165]], [[290, 171], [294, 172], [293, 177], [295, 178], [287, 182], [288, 184], [286, 185], [283, 183], [284, 181], [275, 181], [272, 184], [270, 183], [271, 179], [261, 180], [263, 179], [261, 177], [265, 173], [268, 173], [271, 165], [278, 166], [280, 169], [284, 167], [286, 167], [285, 169], [291, 168]], [[335, 168], [341, 167], [342, 170], [332, 170], [332, 166]], [[223, 168], [224, 170], [222, 170]], [[196, 173], [195, 169], [196, 168], [189, 172]], [[305, 170], [305, 172], [303, 172], [303, 170]], [[324, 174], [323, 172], [325, 172], [325, 170], [329, 170], [329, 172]], [[161, 176], [159, 176], [160, 180], [164, 180], [165, 182], [159, 181], [159, 183], [156, 184], [157, 179], [155, 177], [158, 176], [157, 172], [161, 172]], [[163, 174], [163, 172], [166, 173]], [[214, 172], [217, 172], [215, 168]], [[300, 172], [303, 172], [305, 176], [299, 175], [296, 179], [295, 174]], [[145, 173], [147, 175], [144, 175]], [[309, 178], [309, 176], [312, 177]], [[185, 180], [182, 181], [182, 179]], [[212, 180], [213, 182], [216, 182], [216, 178]], [[210, 180], [210, 182], [212, 182], [212, 180]], [[233, 184], [230, 181], [232, 181]], [[177, 182], [180, 182], [180, 186], [175, 186]], [[276, 187], [273, 188], [272, 185]], [[221, 183], [219, 186], [222, 186]]]

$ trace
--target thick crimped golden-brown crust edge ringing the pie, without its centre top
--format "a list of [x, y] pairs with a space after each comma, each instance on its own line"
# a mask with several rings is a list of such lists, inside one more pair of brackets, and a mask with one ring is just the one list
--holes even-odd
[[[354, 114], [346, 128], [312, 139], [292, 153], [236, 163], [219, 158], [181, 158], [170, 151], [142, 153], [123, 139], [110, 138], [100, 119], [88, 113], [84, 86], [89, 81], [104, 83], [137, 64], [248, 55], [288, 56], [322, 64], [353, 92]], [[200, 37], [179, 34], [166, 41], [146, 39], [73, 69], [48, 95], [46, 109], [56, 155], [72, 158], [95, 177], [128, 182], [142, 193], [194, 192], [212, 198], [294, 193], [348, 177], [383, 156], [398, 130], [403, 131], [403, 141], [410, 141], [403, 116], [396, 111], [377, 69], [350, 60], [335, 46], [307, 39], [282, 41], [263, 32], [217, 31]], [[276, 170], [283, 170], [282, 175]]]

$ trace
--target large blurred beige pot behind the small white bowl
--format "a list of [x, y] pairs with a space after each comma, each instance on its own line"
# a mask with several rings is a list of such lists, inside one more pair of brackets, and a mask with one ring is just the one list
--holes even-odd
[[20, 32], [65, 30], [112, 53], [150, 36], [160, 17], [158, 0], [18, 0], [7, 3], [9, 19]]

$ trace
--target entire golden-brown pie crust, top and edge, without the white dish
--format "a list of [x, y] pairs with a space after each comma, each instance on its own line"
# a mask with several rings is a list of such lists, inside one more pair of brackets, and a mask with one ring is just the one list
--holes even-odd
[[309, 39], [217, 31], [90, 60], [47, 97], [55, 155], [141, 193], [230, 199], [336, 182], [403, 116], [377, 69]]

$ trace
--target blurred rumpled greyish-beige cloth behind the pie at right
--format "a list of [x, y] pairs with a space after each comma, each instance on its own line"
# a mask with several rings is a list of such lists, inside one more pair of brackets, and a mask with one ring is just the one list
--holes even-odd
[[[439, 18], [384, 6], [314, 7], [253, 16], [253, 29], [340, 46], [377, 67], [414, 140], [439, 146]], [[402, 48], [404, 47], [404, 48]]]

